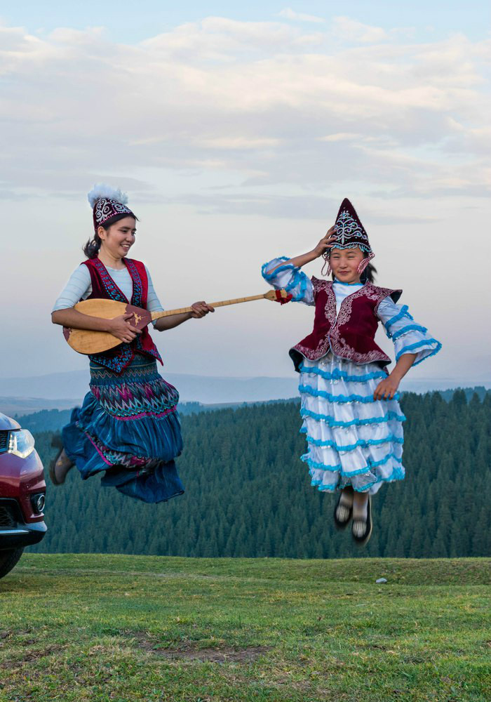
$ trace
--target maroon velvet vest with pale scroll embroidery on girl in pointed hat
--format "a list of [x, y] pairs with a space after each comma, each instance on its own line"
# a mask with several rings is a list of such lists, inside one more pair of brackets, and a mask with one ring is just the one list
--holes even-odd
[[290, 357], [298, 371], [302, 358], [317, 361], [328, 351], [354, 363], [377, 363], [382, 368], [391, 362], [375, 343], [375, 332], [379, 324], [377, 308], [387, 296], [394, 302], [401, 297], [402, 290], [379, 288], [365, 283], [341, 303], [336, 314], [336, 296], [332, 281], [312, 278], [316, 314], [314, 331], [290, 349]]

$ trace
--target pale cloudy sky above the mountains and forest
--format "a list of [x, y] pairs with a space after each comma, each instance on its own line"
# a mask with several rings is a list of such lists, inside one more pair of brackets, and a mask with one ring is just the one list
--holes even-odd
[[[413, 377], [491, 380], [490, 47], [475, 0], [0, 3], [0, 376], [86, 366], [50, 312], [104, 182], [167, 309], [264, 291], [349, 197], [443, 342]], [[154, 337], [169, 372], [287, 376], [311, 323], [261, 301]]]

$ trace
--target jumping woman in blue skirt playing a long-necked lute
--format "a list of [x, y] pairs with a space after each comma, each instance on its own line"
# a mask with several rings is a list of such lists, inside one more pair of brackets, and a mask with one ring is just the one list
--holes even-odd
[[[137, 218], [120, 190], [96, 185], [88, 194], [94, 235], [86, 260], [72, 273], [53, 307], [53, 324], [112, 333], [116, 348], [90, 355], [90, 392], [62, 430], [62, 448], [51, 464], [54, 485], [76, 465], [83, 479], [104, 472], [103, 486], [144, 502], [157, 503], [184, 492], [175, 458], [182, 451], [179, 394], [157, 371], [162, 363], [147, 328], [130, 324], [132, 314], [90, 317], [74, 309], [80, 300], [105, 298], [149, 312], [163, 310], [147, 266], [128, 258]], [[163, 317], [154, 329], [166, 331], [201, 319], [213, 307], [201, 301], [192, 312]]]

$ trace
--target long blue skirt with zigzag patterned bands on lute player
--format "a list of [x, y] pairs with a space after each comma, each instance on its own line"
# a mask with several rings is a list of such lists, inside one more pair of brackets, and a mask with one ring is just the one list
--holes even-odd
[[90, 392], [62, 430], [67, 456], [83, 479], [149, 503], [182, 495], [174, 459], [182, 451], [179, 393], [137, 355], [119, 375], [90, 363]]

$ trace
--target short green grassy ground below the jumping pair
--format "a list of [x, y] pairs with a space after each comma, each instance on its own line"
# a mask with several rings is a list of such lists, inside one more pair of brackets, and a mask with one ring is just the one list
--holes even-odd
[[25, 555], [0, 700], [489, 702], [490, 585], [491, 559]]

